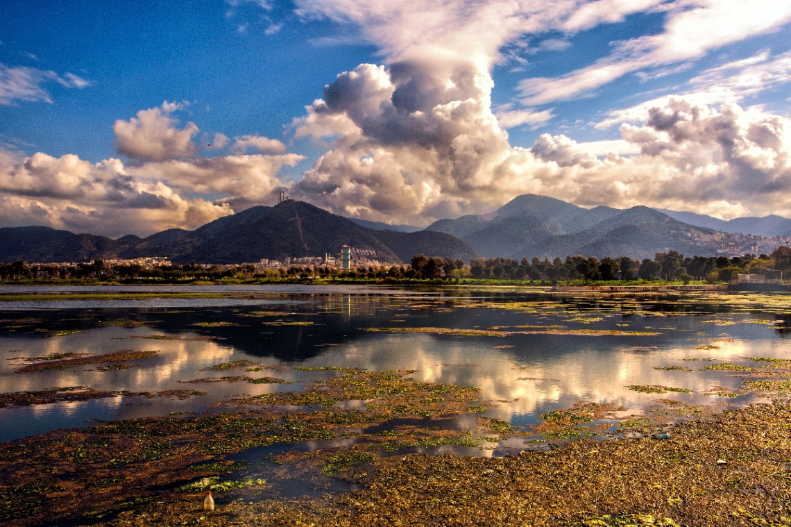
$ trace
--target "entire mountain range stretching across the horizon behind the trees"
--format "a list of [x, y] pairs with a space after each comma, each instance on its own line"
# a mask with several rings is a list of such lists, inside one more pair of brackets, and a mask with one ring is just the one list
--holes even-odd
[[175, 263], [241, 264], [263, 258], [335, 255], [341, 245], [372, 249], [386, 263], [408, 262], [415, 254], [465, 262], [479, 256], [539, 258], [631, 256], [653, 258], [675, 249], [711, 256], [692, 236], [751, 233], [791, 236], [791, 220], [780, 216], [729, 222], [691, 212], [632, 207], [585, 209], [560, 199], [526, 194], [491, 214], [434, 222], [426, 229], [343, 218], [299, 201], [252, 207], [193, 231], [168, 229], [140, 238], [112, 240], [49, 227], [0, 228], [0, 261], [74, 262], [168, 256]]

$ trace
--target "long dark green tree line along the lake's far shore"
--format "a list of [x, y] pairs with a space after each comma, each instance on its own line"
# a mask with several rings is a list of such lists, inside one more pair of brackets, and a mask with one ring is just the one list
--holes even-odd
[[[79, 264], [32, 264], [17, 260], [0, 264], [0, 279], [161, 279], [169, 281], [195, 279], [501, 279], [561, 282], [570, 280], [706, 280], [730, 281], [736, 275], [750, 273], [769, 279], [791, 271], [791, 248], [780, 247], [770, 255], [684, 256], [677, 251], [657, 252], [653, 260], [628, 256], [597, 259], [594, 256], [566, 256], [550, 261], [534, 257], [521, 260], [509, 258], [473, 258], [463, 260], [439, 256], [416, 255], [409, 265], [359, 267], [350, 270], [338, 267], [300, 267], [257, 269], [252, 264], [234, 266], [167, 264], [144, 267], [139, 264], [109, 264], [104, 260]], [[791, 278], [791, 274], [786, 274]]]

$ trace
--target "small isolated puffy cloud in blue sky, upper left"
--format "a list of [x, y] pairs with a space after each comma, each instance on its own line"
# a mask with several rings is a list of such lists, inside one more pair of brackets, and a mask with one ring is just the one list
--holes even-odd
[[165, 161], [195, 155], [192, 138], [198, 133], [195, 123], [177, 127], [172, 112], [184, 104], [165, 101], [158, 108], [140, 110], [128, 121], [118, 119], [112, 127], [119, 154], [142, 161]]

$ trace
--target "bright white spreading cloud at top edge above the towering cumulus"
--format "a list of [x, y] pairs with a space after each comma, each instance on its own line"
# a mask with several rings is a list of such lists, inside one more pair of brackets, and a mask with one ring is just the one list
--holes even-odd
[[581, 7], [577, 0], [545, 3], [510, 0], [297, 0], [296, 3], [297, 13], [302, 17], [327, 17], [360, 26], [362, 35], [380, 46], [391, 61], [439, 54], [455, 60], [466, 59], [481, 70], [489, 70], [498, 59], [500, 48], [521, 35], [540, 34], [553, 29], [571, 33], [587, 28], [586, 24], [593, 21], [598, 23], [601, 17], [616, 21], [626, 14], [661, 2], [592, 2], [606, 4], [606, 9], [602, 13], [593, 13], [590, 21], [574, 21], [575, 13]]

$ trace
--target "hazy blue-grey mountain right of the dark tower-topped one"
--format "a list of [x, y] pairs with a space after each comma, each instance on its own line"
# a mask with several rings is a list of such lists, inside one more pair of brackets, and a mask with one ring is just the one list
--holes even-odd
[[453, 234], [486, 257], [554, 258], [634, 256], [648, 258], [676, 249], [685, 254], [713, 254], [691, 245], [688, 233], [713, 232], [687, 225], [649, 207], [585, 209], [560, 199], [527, 194], [487, 215], [440, 220], [427, 229]]

